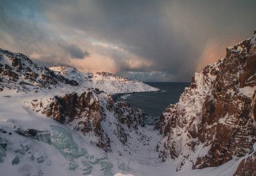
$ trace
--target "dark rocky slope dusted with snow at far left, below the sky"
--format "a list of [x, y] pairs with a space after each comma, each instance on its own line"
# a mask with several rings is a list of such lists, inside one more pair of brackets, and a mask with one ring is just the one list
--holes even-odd
[[77, 86], [77, 82], [56, 75], [53, 70], [38, 66], [21, 53], [0, 49], [0, 90], [4, 88], [18, 91], [53, 88], [69, 84]]

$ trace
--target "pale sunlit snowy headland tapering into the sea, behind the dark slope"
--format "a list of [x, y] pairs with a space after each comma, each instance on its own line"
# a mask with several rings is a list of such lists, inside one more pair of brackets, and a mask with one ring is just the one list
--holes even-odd
[[80, 86], [85, 88], [98, 88], [109, 94], [131, 93], [131, 92], [154, 92], [154, 88], [141, 81], [118, 77], [109, 72], [83, 73], [68, 66], [51, 67], [57, 75], [62, 75], [67, 79], [75, 80]]

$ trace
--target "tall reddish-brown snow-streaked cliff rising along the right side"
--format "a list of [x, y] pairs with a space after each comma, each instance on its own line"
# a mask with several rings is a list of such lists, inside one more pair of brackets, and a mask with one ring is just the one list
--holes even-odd
[[[159, 157], [183, 158], [192, 168], [245, 156], [256, 141], [255, 38], [227, 48], [226, 57], [195, 73], [177, 104], [161, 114]], [[178, 168], [179, 170], [179, 168]]]

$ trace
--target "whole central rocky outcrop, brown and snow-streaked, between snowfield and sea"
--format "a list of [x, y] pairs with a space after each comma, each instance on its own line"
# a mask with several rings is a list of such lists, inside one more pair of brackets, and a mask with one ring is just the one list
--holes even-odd
[[[109, 137], [115, 135], [126, 145], [129, 130], [136, 131], [138, 126], [145, 125], [143, 110], [131, 108], [125, 101], [114, 103], [110, 95], [98, 89], [82, 94], [74, 92], [46, 99], [28, 100], [25, 104], [37, 113], [66, 124], [84, 135], [90, 135], [91, 143], [105, 151], [111, 151], [110, 141], [113, 139]], [[113, 133], [106, 133], [102, 123], [108, 124]]]

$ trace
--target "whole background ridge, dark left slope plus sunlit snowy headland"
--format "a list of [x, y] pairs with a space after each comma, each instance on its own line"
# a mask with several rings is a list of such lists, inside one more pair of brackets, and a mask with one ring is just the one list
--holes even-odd
[[[0, 90], [17, 91], [64, 88], [64, 92], [98, 88], [109, 94], [158, 91], [141, 81], [118, 77], [107, 72], [85, 74], [71, 67], [38, 66], [21, 53], [0, 49]], [[54, 71], [53, 71], [54, 70]]]

